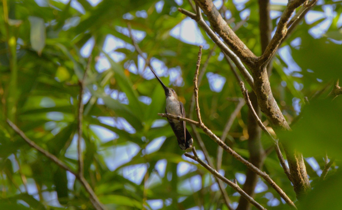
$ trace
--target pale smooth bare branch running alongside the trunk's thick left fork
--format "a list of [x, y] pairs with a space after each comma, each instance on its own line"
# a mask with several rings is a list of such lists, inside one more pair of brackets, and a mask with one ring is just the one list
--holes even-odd
[[235, 65], [237, 66], [237, 68], [239, 69], [239, 71], [241, 72], [242, 76], [244, 76], [244, 78], [246, 79], [246, 81], [248, 82], [248, 84], [252, 87], [252, 89], [254, 89], [254, 81], [252, 76], [249, 74], [249, 72], [247, 71], [246, 67], [244, 66], [244, 64], [242, 64], [240, 58], [238, 56], [236, 56], [234, 54], [234, 52], [229, 49], [221, 40], [220, 38], [211, 30], [211, 28], [207, 25], [207, 23], [203, 20], [203, 18], [201, 17], [200, 19], [197, 19], [196, 14], [191, 13], [189, 11], [186, 11], [182, 8], [178, 8], [178, 11], [181, 12], [182, 14], [194, 19], [195, 21], [197, 21], [198, 25], [200, 25], [203, 30], [205, 30], [207, 32], [207, 34], [210, 36], [210, 38], [216, 43], [216, 45], [218, 45], [222, 51], [230, 58], [232, 59], [232, 61], [235, 63]]

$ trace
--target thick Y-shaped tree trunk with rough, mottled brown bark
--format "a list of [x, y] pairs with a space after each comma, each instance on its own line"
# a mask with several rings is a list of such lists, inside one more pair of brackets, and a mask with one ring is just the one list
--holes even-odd
[[[195, 0], [195, 3], [207, 15], [214, 31], [222, 37], [226, 44], [251, 70], [254, 79], [254, 91], [257, 95], [260, 109], [275, 131], [289, 131], [290, 126], [282, 115], [281, 110], [273, 97], [266, 66], [287, 34], [288, 22], [291, 15], [295, 12], [295, 9], [301, 6], [305, 1], [306, 0], [289, 1], [285, 11], [280, 17], [275, 35], [267, 45], [265, 52], [261, 57], [256, 57], [236, 36], [232, 29], [229, 28], [211, 0]], [[294, 191], [296, 192], [297, 197], [300, 198], [302, 194], [305, 194], [311, 188], [307, 178], [303, 157], [301, 154], [288, 148], [286, 142], [283, 142], [283, 146], [286, 150]]]

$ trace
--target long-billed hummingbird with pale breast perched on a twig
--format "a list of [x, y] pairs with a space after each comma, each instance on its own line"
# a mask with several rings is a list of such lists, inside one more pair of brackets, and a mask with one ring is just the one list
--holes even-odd
[[[166, 96], [166, 114], [176, 115], [185, 117], [184, 105], [182, 102], [178, 101], [177, 93], [172, 89], [168, 88], [164, 85], [164, 83], [159, 79], [157, 74], [149, 67], [154, 76], [160, 82], [160, 85], [163, 87]], [[173, 130], [173, 133], [176, 135], [178, 140], [178, 145], [182, 150], [186, 150], [191, 148], [193, 145], [193, 138], [190, 135], [189, 131], [185, 127], [185, 121], [179, 121], [176, 119], [168, 118], [169, 124]]]

